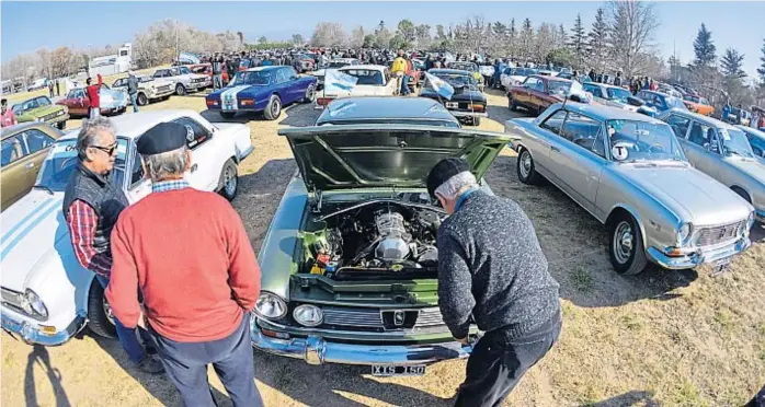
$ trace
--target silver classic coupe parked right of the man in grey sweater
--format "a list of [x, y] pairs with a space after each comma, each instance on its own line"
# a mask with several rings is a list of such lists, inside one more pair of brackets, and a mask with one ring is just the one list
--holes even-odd
[[608, 230], [614, 269], [641, 272], [712, 263], [723, 271], [750, 245], [751, 205], [694, 168], [665, 123], [591, 104], [550, 106], [535, 120], [511, 119], [517, 175], [547, 179]]

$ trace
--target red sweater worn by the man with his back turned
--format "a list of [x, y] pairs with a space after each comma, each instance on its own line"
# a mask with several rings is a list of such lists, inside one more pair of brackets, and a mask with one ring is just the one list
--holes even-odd
[[111, 243], [106, 299], [127, 327], [141, 312], [137, 288], [149, 325], [180, 342], [222, 339], [255, 305], [255, 253], [237, 211], [214, 193], [152, 193], [119, 214]]

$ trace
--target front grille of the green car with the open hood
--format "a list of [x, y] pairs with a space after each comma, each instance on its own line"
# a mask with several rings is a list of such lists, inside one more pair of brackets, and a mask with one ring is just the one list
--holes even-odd
[[[386, 328], [380, 309], [324, 306], [322, 311], [324, 312], [324, 325], [376, 329]], [[419, 315], [413, 325], [414, 328], [444, 325], [444, 318], [437, 306], [420, 310], [403, 309], [402, 311], [419, 311]]]

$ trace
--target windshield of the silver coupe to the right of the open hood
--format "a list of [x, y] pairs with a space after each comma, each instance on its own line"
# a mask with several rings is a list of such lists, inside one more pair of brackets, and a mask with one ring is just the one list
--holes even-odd
[[606, 120], [612, 155], [614, 147], [623, 148], [623, 160], [617, 161], [656, 161], [681, 160], [684, 155], [672, 128], [666, 124], [652, 124], [639, 120]]

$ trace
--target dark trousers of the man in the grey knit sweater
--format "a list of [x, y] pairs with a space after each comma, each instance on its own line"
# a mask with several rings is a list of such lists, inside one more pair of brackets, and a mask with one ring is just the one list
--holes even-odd
[[507, 330], [487, 333], [468, 359], [467, 377], [455, 406], [500, 406], [526, 371], [552, 348], [561, 329], [560, 312], [532, 333], [510, 338]]

